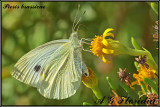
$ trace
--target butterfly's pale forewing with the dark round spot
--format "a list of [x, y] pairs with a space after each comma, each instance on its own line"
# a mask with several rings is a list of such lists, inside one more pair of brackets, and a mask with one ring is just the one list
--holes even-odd
[[31, 50], [18, 60], [11, 75], [21, 82], [37, 87], [39, 75], [47, 60], [68, 42], [68, 39], [55, 40]]

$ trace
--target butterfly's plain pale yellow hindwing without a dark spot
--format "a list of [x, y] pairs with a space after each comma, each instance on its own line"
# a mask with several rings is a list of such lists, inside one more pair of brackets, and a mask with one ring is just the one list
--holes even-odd
[[[57, 57], [59, 55], [61, 57]], [[82, 55], [79, 48], [67, 44], [55, 52], [40, 74], [38, 91], [46, 98], [65, 99], [75, 94], [82, 76]]]

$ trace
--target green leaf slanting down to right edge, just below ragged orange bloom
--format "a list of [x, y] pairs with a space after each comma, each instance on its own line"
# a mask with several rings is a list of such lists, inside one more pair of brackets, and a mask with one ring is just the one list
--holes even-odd
[[150, 78], [143, 78], [143, 81], [146, 82], [158, 95], [158, 87]]

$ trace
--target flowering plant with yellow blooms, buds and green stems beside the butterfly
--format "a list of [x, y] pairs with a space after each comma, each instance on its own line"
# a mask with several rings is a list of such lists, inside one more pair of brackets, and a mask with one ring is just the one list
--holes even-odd
[[[127, 54], [131, 56], [138, 56], [135, 58], [135, 66], [137, 68], [138, 74], [133, 73], [133, 78], [135, 81], [131, 81], [129, 77], [131, 73], [127, 73], [127, 69], [119, 68], [117, 72], [120, 79], [120, 86], [128, 93], [131, 100], [138, 101], [143, 94], [148, 97], [146, 105], [158, 105], [158, 87], [155, 84], [157, 81], [157, 64], [155, 63], [151, 53], [146, 49], [141, 50], [134, 38], [132, 38], [132, 45], [135, 49], [124, 46], [119, 41], [113, 40], [114, 34], [110, 33], [113, 31], [112, 28], [108, 28], [104, 31], [103, 35], [95, 36], [91, 42], [90, 50], [94, 55], [98, 56], [105, 63], [110, 63], [110, 55], [120, 55]], [[98, 79], [92, 69], [88, 68], [89, 76], [82, 76], [83, 84], [92, 89], [93, 93], [98, 99], [104, 98], [100, 89], [98, 88]], [[114, 96], [110, 97], [109, 102], [104, 102], [102, 105], [130, 105], [130, 103], [124, 103], [123, 101], [127, 99], [126, 97], [121, 97], [117, 94], [116, 86], [112, 80], [107, 76], [107, 81], [112, 89]], [[141, 91], [136, 92], [133, 85], [138, 85], [141, 87]], [[150, 93], [150, 94], [148, 94]], [[148, 103], [152, 100], [156, 100], [154, 104]], [[121, 102], [121, 103], [119, 103]], [[84, 103], [88, 104], [88, 103]], [[92, 105], [92, 104], [90, 104]], [[134, 105], [134, 104], [133, 104]]]

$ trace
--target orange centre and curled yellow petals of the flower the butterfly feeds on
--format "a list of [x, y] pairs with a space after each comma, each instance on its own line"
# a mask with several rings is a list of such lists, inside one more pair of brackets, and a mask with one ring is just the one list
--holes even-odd
[[91, 42], [90, 50], [94, 53], [94, 55], [100, 57], [103, 62], [110, 63], [111, 61], [108, 61], [108, 57], [110, 54], [114, 53], [113, 49], [110, 48], [110, 44], [108, 43], [108, 39], [105, 39], [107, 36], [112, 36], [114, 38], [113, 33], [109, 33], [110, 31], [113, 31], [114, 29], [108, 28], [104, 31], [103, 35], [96, 36]]

